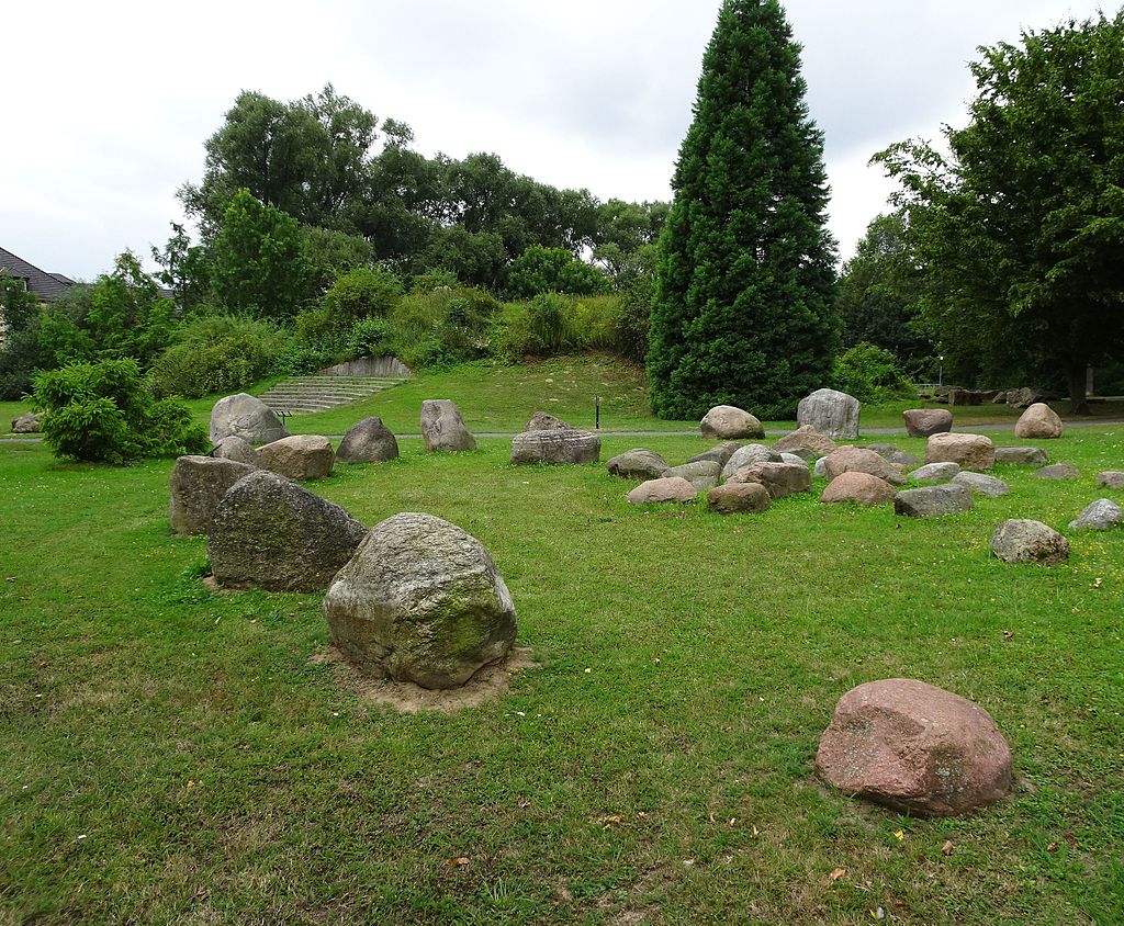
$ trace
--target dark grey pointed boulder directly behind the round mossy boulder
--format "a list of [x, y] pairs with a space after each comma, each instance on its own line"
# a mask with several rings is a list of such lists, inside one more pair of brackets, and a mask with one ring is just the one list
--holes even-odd
[[366, 528], [338, 505], [259, 470], [223, 497], [207, 530], [220, 585], [317, 591], [355, 553]]

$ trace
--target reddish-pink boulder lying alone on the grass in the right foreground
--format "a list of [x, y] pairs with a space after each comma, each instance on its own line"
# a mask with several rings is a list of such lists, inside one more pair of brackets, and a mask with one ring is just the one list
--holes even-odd
[[913, 679], [840, 698], [816, 771], [845, 795], [918, 817], [967, 814], [1010, 791], [1010, 748], [979, 705]]

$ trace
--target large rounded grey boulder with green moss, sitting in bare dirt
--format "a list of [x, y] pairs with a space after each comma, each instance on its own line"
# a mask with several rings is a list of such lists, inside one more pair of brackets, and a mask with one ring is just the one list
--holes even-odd
[[433, 515], [377, 525], [324, 598], [332, 642], [362, 672], [423, 688], [463, 686], [504, 659], [515, 606], [483, 545]]

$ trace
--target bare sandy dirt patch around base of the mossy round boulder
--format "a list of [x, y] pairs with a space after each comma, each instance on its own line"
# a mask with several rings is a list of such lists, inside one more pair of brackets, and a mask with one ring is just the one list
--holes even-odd
[[505, 694], [510, 688], [511, 679], [519, 672], [538, 668], [529, 646], [515, 646], [506, 660], [483, 666], [461, 688], [430, 690], [414, 682], [371, 679], [360, 674], [334, 646], [317, 653], [309, 662], [330, 665], [336, 684], [341, 688], [354, 691], [363, 700], [391, 707], [399, 714], [417, 714], [419, 710], [453, 714], [475, 707]]

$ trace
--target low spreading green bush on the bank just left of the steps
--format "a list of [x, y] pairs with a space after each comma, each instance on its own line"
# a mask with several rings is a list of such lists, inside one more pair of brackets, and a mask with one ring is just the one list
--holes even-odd
[[156, 358], [149, 373], [153, 392], [188, 398], [235, 392], [272, 372], [292, 347], [292, 336], [272, 323], [200, 315], [184, 323], [175, 343]]

